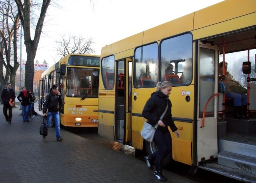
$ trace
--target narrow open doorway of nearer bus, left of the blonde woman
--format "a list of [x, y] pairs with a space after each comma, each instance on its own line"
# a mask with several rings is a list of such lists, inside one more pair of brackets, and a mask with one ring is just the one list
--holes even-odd
[[131, 141], [132, 59], [116, 62], [115, 140], [127, 144]]

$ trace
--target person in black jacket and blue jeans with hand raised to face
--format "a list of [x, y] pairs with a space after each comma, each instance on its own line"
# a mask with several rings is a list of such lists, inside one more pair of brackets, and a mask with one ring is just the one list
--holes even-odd
[[[56, 131], [57, 141], [63, 140], [62, 137], [60, 137], [60, 113], [59, 113], [60, 104], [62, 104], [62, 97], [60, 96], [58, 87], [56, 85], [52, 85], [52, 88], [50, 89], [50, 94], [46, 96], [46, 99], [44, 101], [43, 112], [44, 112], [44, 116], [47, 116], [47, 124], [46, 124], [47, 128], [50, 127], [52, 119], [54, 119], [55, 121], [55, 131]], [[48, 109], [48, 112], [47, 112], [47, 109]]]

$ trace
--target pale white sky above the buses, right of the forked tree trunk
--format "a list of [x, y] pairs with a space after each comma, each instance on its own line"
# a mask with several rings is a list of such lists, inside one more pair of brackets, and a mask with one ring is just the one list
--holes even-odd
[[[53, 0], [52, 0], [53, 1]], [[154, 26], [211, 6], [222, 0], [58, 0], [46, 14], [35, 61], [52, 66], [60, 58], [56, 40], [64, 34], [92, 38], [95, 54], [101, 48]], [[24, 40], [22, 40], [22, 43]], [[26, 58], [22, 45], [22, 60]]]

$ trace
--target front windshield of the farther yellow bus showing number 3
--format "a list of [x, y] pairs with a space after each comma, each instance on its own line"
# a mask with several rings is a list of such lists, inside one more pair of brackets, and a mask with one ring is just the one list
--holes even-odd
[[99, 69], [67, 68], [67, 97], [98, 97]]

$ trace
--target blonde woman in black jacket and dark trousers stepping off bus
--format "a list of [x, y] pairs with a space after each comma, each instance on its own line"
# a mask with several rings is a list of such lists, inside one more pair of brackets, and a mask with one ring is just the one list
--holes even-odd
[[[154, 142], [156, 143], [158, 150], [144, 158], [150, 170], [153, 169], [152, 162], [155, 161], [156, 169], [154, 171], [154, 177], [161, 181], [167, 181], [162, 174], [162, 163], [166, 155], [172, 152], [172, 137], [168, 130], [168, 126], [170, 126], [170, 129], [176, 133], [177, 137], [180, 137], [180, 133], [177, 131], [178, 128], [172, 120], [172, 103], [168, 98], [171, 90], [171, 82], [159, 82], [156, 85], [156, 92], [151, 94], [151, 97], [146, 102], [142, 111], [143, 117], [146, 118], [148, 123], [153, 127], [158, 123], [158, 127], [154, 135]], [[164, 113], [167, 104], [168, 109], [162, 120], [160, 120], [160, 116]]]

